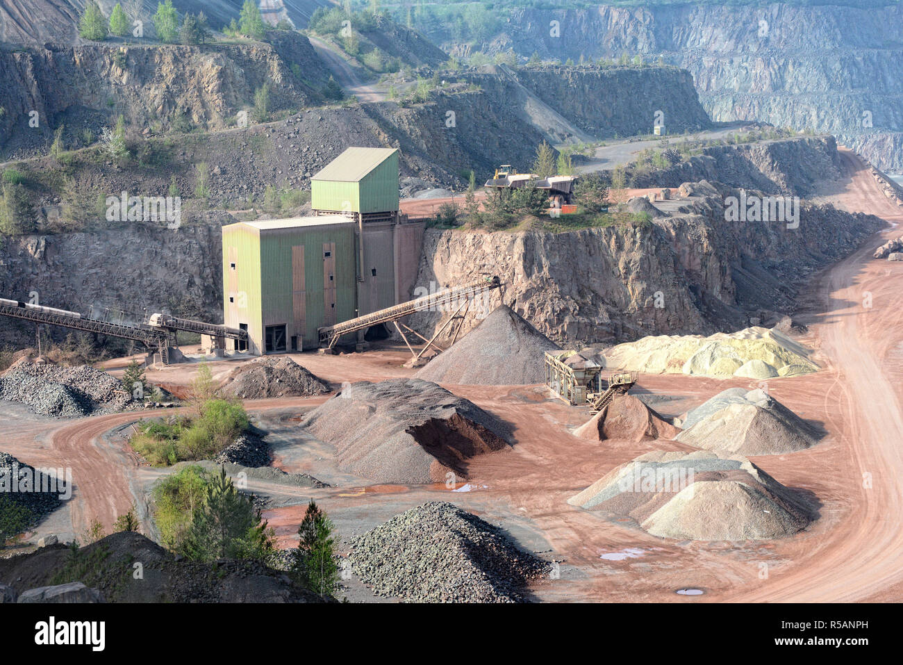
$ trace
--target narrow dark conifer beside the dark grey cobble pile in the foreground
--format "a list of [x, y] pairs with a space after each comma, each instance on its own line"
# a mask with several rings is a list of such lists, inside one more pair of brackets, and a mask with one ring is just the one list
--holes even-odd
[[298, 527], [293, 573], [315, 594], [332, 595], [339, 584], [332, 520], [311, 500]]

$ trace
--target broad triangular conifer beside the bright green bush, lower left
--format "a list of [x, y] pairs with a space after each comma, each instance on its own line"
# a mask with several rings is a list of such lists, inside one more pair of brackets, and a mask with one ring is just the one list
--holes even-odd
[[275, 553], [273, 529], [267, 528], [251, 497], [238, 492], [226, 469], [204, 488], [194, 511], [182, 554], [195, 561], [253, 558], [269, 561]]

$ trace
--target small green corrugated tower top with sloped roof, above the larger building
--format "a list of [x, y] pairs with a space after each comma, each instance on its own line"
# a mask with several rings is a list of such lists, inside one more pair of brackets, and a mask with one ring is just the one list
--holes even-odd
[[311, 207], [318, 214], [398, 211], [398, 150], [348, 148], [311, 178]]

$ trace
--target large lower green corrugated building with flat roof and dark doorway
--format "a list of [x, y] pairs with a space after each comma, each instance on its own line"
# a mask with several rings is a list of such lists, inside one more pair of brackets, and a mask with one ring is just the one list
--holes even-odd
[[223, 227], [224, 318], [247, 351], [315, 348], [317, 328], [357, 315], [355, 228], [338, 215]]

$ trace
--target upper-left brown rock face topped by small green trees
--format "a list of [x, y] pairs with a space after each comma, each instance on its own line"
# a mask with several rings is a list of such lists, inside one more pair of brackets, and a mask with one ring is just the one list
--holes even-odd
[[45, 150], [60, 125], [72, 145], [82, 128], [98, 136], [119, 115], [138, 127], [222, 129], [253, 106], [264, 83], [272, 111], [321, 104], [319, 86], [329, 73], [311, 42], [296, 33], [273, 35], [272, 44], [92, 44], [0, 52], [0, 149], [7, 157]]

